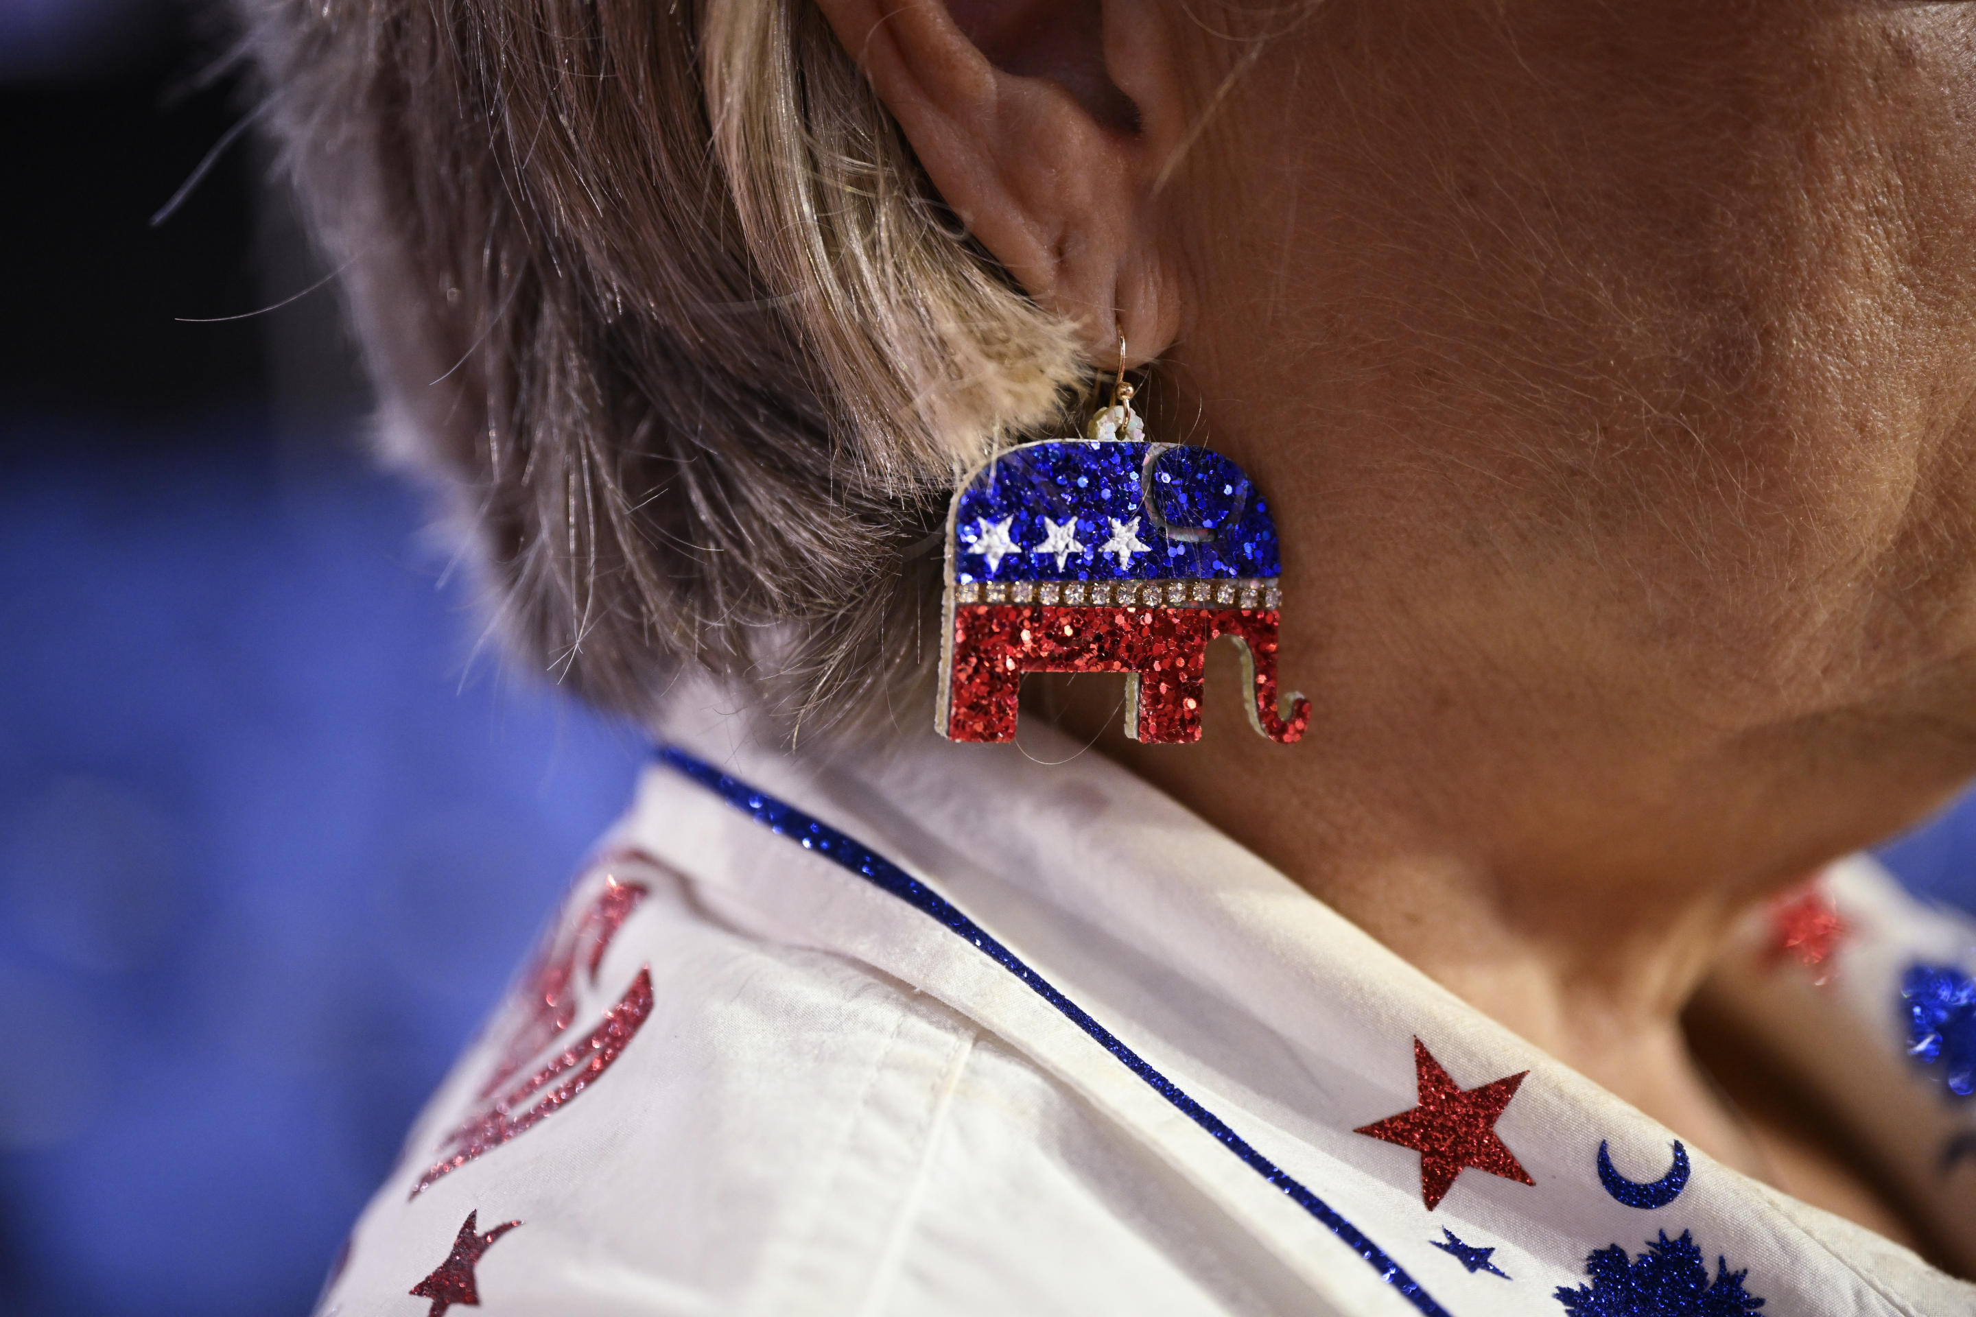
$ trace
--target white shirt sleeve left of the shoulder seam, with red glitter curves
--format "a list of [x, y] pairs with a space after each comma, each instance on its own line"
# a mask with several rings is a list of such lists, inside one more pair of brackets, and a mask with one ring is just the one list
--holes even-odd
[[[557, 979], [571, 997], [561, 1029], [541, 1011]], [[613, 1041], [589, 1046], [613, 1025], [615, 1052]], [[883, 1238], [903, 1210], [899, 1185], [972, 1043], [937, 1001], [721, 922], [650, 857], [605, 857], [417, 1122], [358, 1226], [338, 1297], [405, 1295], [447, 1258], [468, 1210], [482, 1226], [524, 1222], [480, 1268], [492, 1278], [524, 1260], [526, 1276], [484, 1279], [490, 1295], [567, 1303], [622, 1289], [613, 1301], [652, 1299], [624, 1299], [626, 1311], [725, 1311], [782, 1285], [838, 1291], [860, 1279], [856, 1242]], [[577, 1066], [506, 1098], [569, 1052]], [[561, 1100], [530, 1116], [551, 1096]], [[508, 1125], [526, 1127], [456, 1137], [500, 1125], [504, 1102]], [[779, 1311], [810, 1309], [784, 1297]]]

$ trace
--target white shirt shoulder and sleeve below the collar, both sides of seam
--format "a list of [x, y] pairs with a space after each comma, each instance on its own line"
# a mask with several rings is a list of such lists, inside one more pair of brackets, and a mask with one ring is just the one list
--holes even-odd
[[[1053, 1129], [1089, 1123], [1055, 1080], [925, 993], [745, 932], [705, 896], [636, 853], [607, 855], [571, 889], [358, 1222], [324, 1317], [409, 1309], [468, 1212], [478, 1230], [522, 1222], [474, 1268], [490, 1317], [1105, 1301], [1037, 1287], [1065, 1274], [1166, 1285], [1158, 1311], [1221, 1311], [1190, 1293], [1197, 1281], [1164, 1246], [1116, 1220], [1099, 1183], [1109, 1171], [1087, 1179], [1051, 1157]], [[543, 1019], [545, 966], [551, 983], [567, 968], [573, 1011], [514, 1068], [516, 1041], [526, 1050]], [[589, 1041], [613, 1013], [620, 1046], [585, 1074], [609, 1050]], [[569, 1076], [581, 1086], [486, 1147], [460, 1143], [571, 1054], [506, 1118], [565, 1094]], [[472, 1155], [433, 1179], [460, 1151]]]

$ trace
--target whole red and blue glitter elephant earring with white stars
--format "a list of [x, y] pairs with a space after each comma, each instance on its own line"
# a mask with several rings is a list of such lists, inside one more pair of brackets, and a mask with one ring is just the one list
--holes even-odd
[[1276, 701], [1280, 563], [1261, 492], [1215, 452], [1128, 432], [1022, 444], [960, 488], [947, 517], [943, 736], [1012, 740], [1024, 673], [1114, 671], [1128, 736], [1199, 740], [1205, 652], [1221, 636], [1243, 654], [1249, 723], [1284, 744], [1304, 735], [1310, 703]]

